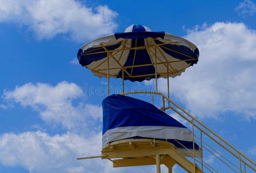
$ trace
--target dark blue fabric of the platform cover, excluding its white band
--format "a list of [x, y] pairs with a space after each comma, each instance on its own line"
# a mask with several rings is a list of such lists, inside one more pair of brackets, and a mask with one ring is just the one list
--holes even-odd
[[[103, 108], [103, 129], [102, 134], [105, 134], [107, 130], [114, 129], [116, 127], [126, 126], [171, 126], [171, 127], [183, 127], [180, 122], [173, 119], [171, 116], [165, 114], [165, 112], [159, 110], [146, 101], [134, 99], [132, 97], [123, 95], [111, 95], [106, 97], [102, 101]], [[132, 137], [143, 138], [143, 137]], [[166, 140], [166, 139], [158, 139]], [[179, 148], [184, 148], [178, 142], [173, 139], [168, 139]], [[189, 149], [192, 149], [192, 142], [180, 141], [181, 144]], [[195, 149], [198, 149], [198, 145], [195, 145]]]

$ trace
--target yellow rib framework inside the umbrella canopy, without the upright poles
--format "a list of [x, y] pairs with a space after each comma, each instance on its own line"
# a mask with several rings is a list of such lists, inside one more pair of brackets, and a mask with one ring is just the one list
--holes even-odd
[[[90, 69], [92, 72], [94, 73], [99, 73], [99, 74], [103, 74], [104, 76], [107, 76], [107, 77], [122, 77], [122, 78], [126, 78], [126, 77], [129, 77], [129, 78], [138, 78], [138, 77], [150, 77], [150, 78], [154, 78], [155, 76], [158, 76], [158, 75], [161, 75], [162, 77], [164, 76], [165, 78], [168, 78], [169, 76], [171, 76], [172, 74], [175, 74], [175, 73], [179, 73], [179, 72], [182, 72], [183, 70], [185, 70], [188, 66], [191, 65], [191, 63], [188, 63], [188, 65], [184, 68], [184, 69], [180, 69], [180, 70], [175, 70], [173, 69], [173, 67], [171, 66], [172, 63], [177, 63], [177, 62], [186, 62], [186, 61], [192, 61], [192, 60], [196, 60], [196, 58], [194, 57], [191, 57], [190, 55], [186, 55], [186, 54], [183, 54], [182, 52], [179, 52], [179, 51], [175, 51], [175, 50], [172, 50], [172, 49], [169, 49], [169, 48], [166, 48], [164, 47], [166, 44], [175, 44], [177, 42], [172, 42], [171, 40], [168, 40], [169, 42], [168, 43], [161, 43], [161, 44], [157, 44], [155, 43], [155, 40], [165, 40], [165, 39], [153, 39], [152, 38], [152, 42], [154, 44], [150, 44], [148, 46], [139, 46], [139, 47], [127, 47], [126, 44], [127, 44], [127, 40], [128, 39], [125, 39], [124, 40], [124, 43], [122, 43], [123, 47], [120, 48], [120, 49], [117, 49], [117, 50], [107, 50], [107, 47], [108, 46], [104, 46], [102, 43], [100, 44], [101, 47], [99, 47], [98, 49], [101, 49], [103, 48], [104, 51], [100, 51], [100, 52], [92, 52], [92, 51], [95, 51], [97, 49], [94, 49], [94, 50], [91, 50], [91, 51], [87, 51], [86, 53], [84, 53], [83, 55], [91, 55], [91, 54], [102, 54], [102, 53], [107, 53], [107, 59], [103, 62], [101, 62], [99, 65], [95, 66], [94, 68], [90, 68], [88, 67], [88, 69]], [[185, 57], [188, 57], [188, 59], [185, 59], [185, 60], [177, 60], [177, 61], [168, 61], [167, 58], [165, 58], [163, 52], [160, 50], [159, 47], [164, 47], [170, 51], [173, 51], [173, 52], [176, 52], [177, 54], [181, 54], [181, 55], [184, 55]], [[150, 49], [148, 48], [154, 48], [154, 51], [151, 51]], [[153, 54], [154, 58], [155, 58], [155, 63], [149, 63], [149, 64], [144, 64], [144, 65], [134, 65], [134, 62], [135, 62], [135, 55], [136, 55], [136, 50], [142, 50], [142, 49], [147, 49], [149, 51], [150, 54]], [[122, 57], [123, 55], [123, 52], [126, 51], [126, 50], [135, 50], [135, 53], [133, 55], [133, 65], [132, 66], [122, 66], [119, 61], [120, 61], [120, 58]], [[157, 51], [160, 52], [160, 54], [165, 58], [165, 61], [162, 62], [161, 59], [159, 59], [159, 57], [157, 56]], [[120, 57], [119, 59], [117, 60], [114, 55], [116, 55], [118, 52], [121, 52], [120, 54]], [[151, 57], [151, 56], [150, 56]], [[106, 61], [109, 61], [109, 59], [112, 58], [114, 59], [114, 61], [119, 65], [119, 67], [114, 67], [114, 68], [107, 68], [107, 69], [99, 69], [99, 70], [96, 70], [97, 67], [99, 67], [100, 65], [102, 65], [103, 63], [105, 63]], [[151, 57], [151, 62], [153, 62], [152, 59], [153, 57]], [[157, 62], [159, 61], [159, 62]], [[133, 72], [133, 68], [136, 68], [136, 67], [143, 67], [143, 66], [157, 66], [157, 65], [164, 65], [166, 67], [166, 72], [165, 73], [154, 73], [154, 74], [144, 74], [144, 75], [132, 75], [132, 72]], [[127, 72], [127, 69], [131, 68], [131, 74]], [[116, 69], [121, 69], [121, 70], [124, 70], [124, 74], [122, 74], [122, 76], [116, 76], [116, 75], [112, 75], [109, 73], [109, 70], [116, 70]], [[107, 73], [103, 72], [103, 71], [107, 71]], [[157, 78], [157, 77], [155, 77]]]

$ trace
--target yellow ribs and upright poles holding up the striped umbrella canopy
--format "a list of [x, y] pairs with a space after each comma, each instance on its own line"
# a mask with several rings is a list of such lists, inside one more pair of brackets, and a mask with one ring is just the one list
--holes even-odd
[[[164, 40], [164, 41], [168, 41], [167, 43], [161, 43], [161, 44], [157, 44], [155, 43], [155, 40]], [[150, 44], [148, 43], [148, 40], [147, 40], [147, 46], [139, 46], [137, 47], [135, 45], [135, 47], [127, 47], [127, 42], [128, 42], [128, 39], [125, 39], [123, 41], [123, 43], [121, 43], [121, 45], [123, 46], [122, 48], [118, 48], [117, 50], [108, 50], [107, 48], [109, 46], [104, 46], [102, 43], [100, 44], [101, 47], [99, 48], [95, 48], [94, 50], [91, 50], [91, 51], [87, 51], [86, 53], [84, 53], [83, 55], [92, 55], [92, 54], [102, 54], [102, 53], [106, 53], [107, 54], [107, 58], [105, 59], [105, 61], [102, 61], [101, 63], [99, 63], [99, 65], [93, 67], [93, 68], [90, 68], [88, 67], [88, 69], [90, 69], [92, 72], [94, 73], [98, 73], [98, 74], [102, 74], [103, 76], [107, 77], [107, 95], [109, 95], [109, 88], [110, 88], [110, 82], [109, 82], [109, 78], [110, 77], [113, 77], [113, 78], [122, 78], [123, 82], [122, 82], [122, 85], [123, 85], [123, 92], [124, 92], [124, 78], [145, 78], [145, 77], [148, 77], [148, 78], [155, 78], [155, 89], [156, 89], [156, 92], [158, 92], [158, 81], [157, 81], [157, 78], [158, 76], [161, 76], [161, 77], [164, 77], [164, 78], [168, 78], [168, 98], [170, 97], [170, 92], [169, 92], [169, 76], [172, 76], [172, 74], [176, 74], [176, 73], [180, 73], [180, 72], [183, 72], [185, 69], [187, 69], [187, 67], [189, 67], [191, 65], [191, 63], [188, 63], [187, 66], [185, 66], [183, 69], [179, 69], [179, 70], [176, 70], [172, 67], [172, 64], [173, 63], [177, 63], [177, 62], [186, 62], [186, 61], [192, 61], [192, 60], [196, 60], [196, 58], [194, 57], [191, 57], [189, 55], [186, 55], [186, 54], [183, 54], [179, 51], [175, 51], [175, 50], [172, 50], [170, 48], [166, 48], [165, 45], [166, 44], [176, 44], [177, 42], [172, 42], [172, 40], [166, 40], [166, 39], [153, 39], [151, 38], [151, 42], [153, 42], [153, 44]], [[137, 44], [137, 39], [136, 39], [136, 43]], [[173, 51], [173, 52], [176, 52], [177, 54], [181, 54], [181, 55], [184, 55], [185, 57], [188, 57], [188, 59], [185, 59], [185, 60], [177, 60], [177, 61], [168, 61], [168, 59], [165, 57], [164, 53], [161, 51], [161, 49], [159, 47], [164, 47], [170, 51]], [[100, 51], [100, 52], [93, 52], [95, 50], [99, 50], [103, 48], [104, 51]], [[153, 50], [150, 50], [149, 48], [153, 48]], [[147, 49], [147, 51], [149, 52], [149, 55], [150, 55], [150, 58], [151, 58], [151, 62], [154, 62], [155, 63], [149, 63], [149, 64], [144, 64], [144, 65], [134, 65], [134, 62], [135, 62], [135, 57], [136, 57], [136, 50], [143, 50], [143, 49]], [[127, 51], [127, 50], [135, 50], [134, 52], [134, 55], [133, 55], [133, 63], [132, 63], [132, 66], [123, 66], [120, 64], [120, 59], [123, 55], [123, 52], [124, 51]], [[114, 57], [114, 55], [118, 54], [118, 52], [121, 52], [120, 54], [120, 57], [117, 58]], [[162, 57], [164, 57], [165, 61], [161, 61], [161, 59], [158, 57], [157, 55], [157, 52], [159, 52]], [[153, 61], [153, 58], [154, 58], [154, 61]], [[119, 67], [110, 67], [110, 64], [109, 64], [109, 61], [110, 59], [113, 59], [117, 65]], [[103, 63], [106, 63], [107, 62], [107, 68], [106, 69], [98, 69], [97, 68], [99, 66], [101, 66]], [[166, 67], [166, 71], [164, 73], [157, 73], [157, 66], [158, 65], [164, 65]], [[132, 75], [132, 72], [133, 72], [133, 69], [136, 68], [136, 67], [146, 67], [146, 66], [155, 66], [155, 73], [153, 74], [142, 74], [142, 75]], [[131, 68], [131, 73], [129, 73], [127, 71], [127, 69], [130, 69]], [[121, 69], [122, 71], [122, 74], [121, 76], [117, 76], [116, 74], [111, 74], [110, 71], [111, 70], [116, 70], [116, 69]]]

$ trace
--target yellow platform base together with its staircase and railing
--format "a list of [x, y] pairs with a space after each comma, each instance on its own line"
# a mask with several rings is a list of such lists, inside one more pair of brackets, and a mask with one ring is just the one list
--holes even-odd
[[[153, 97], [162, 97], [162, 111], [172, 110], [190, 125], [193, 134], [193, 149], [187, 149], [189, 155], [176, 148], [168, 141], [151, 139], [128, 139], [110, 142], [103, 146], [101, 156], [80, 157], [80, 159], [92, 159], [101, 157], [113, 162], [113, 167], [147, 166], [156, 165], [157, 173], [161, 172], [160, 165], [168, 167], [169, 173], [172, 167], [178, 164], [187, 172], [256, 172], [256, 163], [238, 151], [223, 138], [214, 133], [202, 122], [185, 111], [163, 93], [159, 92], [124, 92], [121, 95], [149, 94]], [[156, 100], [156, 99], [155, 99]], [[176, 142], [179, 142], [176, 140]], [[196, 153], [195, 143], [199, 145], [200, 152]], [[180, 144], [180, 142], [179, 142]], [[182, 144], [180, 144], [182, 145]], [[206, 157], [207, 156], [207, 157]], [[208, 160], [207, 160], [208, 158]], [[217, 166], [209, 162], [210, 159], [218, 160]]]

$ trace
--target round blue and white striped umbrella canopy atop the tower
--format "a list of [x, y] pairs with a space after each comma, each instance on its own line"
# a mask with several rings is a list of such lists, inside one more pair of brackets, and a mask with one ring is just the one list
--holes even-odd
[[[198, 48], [181, 37], [151, 32], [143, 25], [131, 25], [84, 44], [77, 53], [82, 66], [95, 76], [143, 81], [147, 78], [176, 77], [198, 62]], [[109, 70], [107, 70], [109, 69]]]

